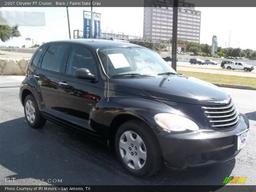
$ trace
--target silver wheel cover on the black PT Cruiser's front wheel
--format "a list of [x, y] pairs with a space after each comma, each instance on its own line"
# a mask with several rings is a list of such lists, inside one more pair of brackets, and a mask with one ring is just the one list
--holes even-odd
[[124, 163], [131, 169], [140, 170], [146, 163], [146, 146], [136, 132], [126, 131], [121, 135], [119, 151]]

